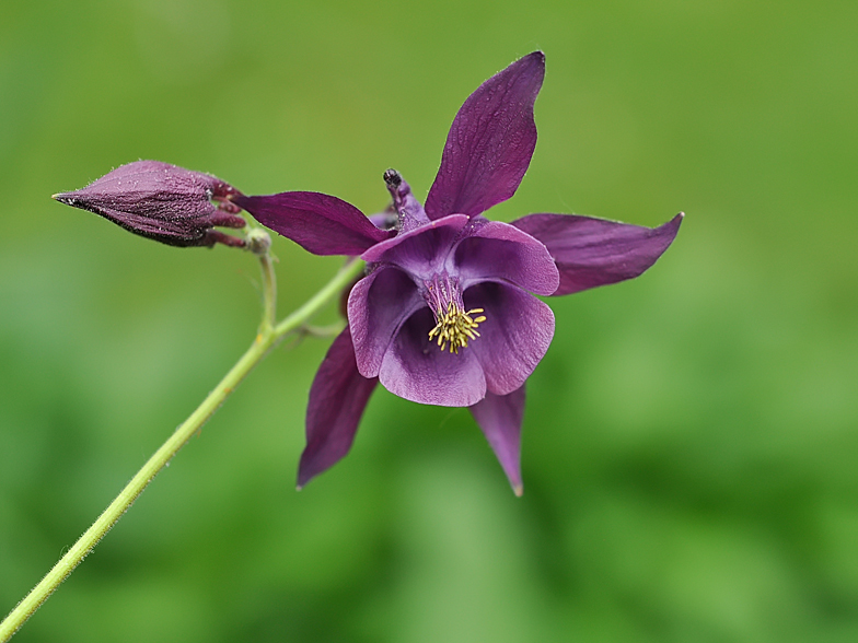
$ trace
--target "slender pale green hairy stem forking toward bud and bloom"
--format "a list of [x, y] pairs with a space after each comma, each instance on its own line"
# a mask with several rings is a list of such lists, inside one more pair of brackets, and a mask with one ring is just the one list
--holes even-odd
[[74, 568], [90, 553], [107, 531], [119, 521], [125, 512], [134, 504], [154, 477], [163, 469], [176, 453], [190, 440], [190, 437], [206, 423], [206, 421], [220, 408], [223, 401], [235, 390], [235, 387], [258, 364], [266, 353], [280, 339], [290, 332], [301, 330], [306, 322], [339, 292], [351, 284], [363, 271], [363, 261], [353, 260], [337, 273], [321, 291], [308, 301], [298, 311], [286, 317], [279, 324], [276, 319], [276, 293], [271, 258], [266, 253], [259, 257], [263, 270], [263, 319], [259, 331], [253, 344], [239, 362], [227, 373], [220, 384], [209, 394], [204, 402], [195, 410], [185, 422], [176, 429], [175, 433], [149, 458], [149, 461], [137, 472], [119, 495], [104, 510], [98, 519], [86, 529], [78, 541], [69, 549], [59, 562], [54, 565], [45, 577], [36, 585], [24, 599], [0, 623], [0, 643], [4, 643], [23, 626], [26, 620], [42, 606], [45, 600], [59, 587]]

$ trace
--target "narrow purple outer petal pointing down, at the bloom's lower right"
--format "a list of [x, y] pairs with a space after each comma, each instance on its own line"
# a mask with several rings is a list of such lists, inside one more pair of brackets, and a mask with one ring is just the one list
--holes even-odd
[[515, 495], [524, 489], [521, 483], [521, 421], [524, 418], [524, 386], [509, 395], [487, 393], [471, 407], [471, 413], [488, 440], [503, 467]]

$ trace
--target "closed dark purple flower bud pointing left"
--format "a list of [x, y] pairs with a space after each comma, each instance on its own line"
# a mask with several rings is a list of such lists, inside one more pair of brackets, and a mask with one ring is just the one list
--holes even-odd
[[241, 209], [230, 200], [240, 194], [209, 174], [159, 161], [136, 161], [85, 188], [54, 198], [171, 246], [222, 243], [241, 247], [243, 239], [212, 230], [244, 227], [244, 219], [237, 215]]

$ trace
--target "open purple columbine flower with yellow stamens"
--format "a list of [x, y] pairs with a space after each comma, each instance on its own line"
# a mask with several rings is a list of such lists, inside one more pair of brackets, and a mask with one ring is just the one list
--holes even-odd
[[535, 51], [465, 101], [425, 208], [397, 172], [385, 173], [396, 214], [390, 229], [317, 192], [233, 199], [311, 253], [368, 264], [349, 295], [348, 327], [310, 389], [299, 487], [348, 453], [381, 382], [413, 401], [468, 407], [520, 494], [524, 383], [554, 336], [554, 314], [534, 294], [637, 277], [675, 237], [682, 214], [657, 229], [569, 214], [511, 224], [483, 217], [527, 169], [544, 73]]

